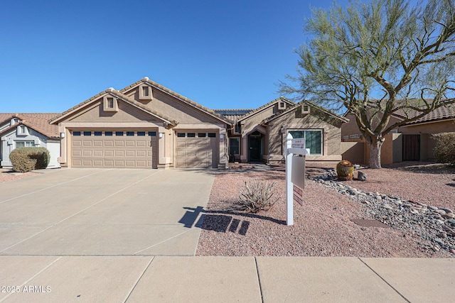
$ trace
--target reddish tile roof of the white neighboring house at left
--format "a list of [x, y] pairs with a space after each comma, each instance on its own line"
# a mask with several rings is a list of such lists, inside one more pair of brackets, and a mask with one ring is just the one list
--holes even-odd
[[0, 114], [0, 124], [6, 121], [9, 121], [13, 118], [18, 118], [20, 121], [9, 128], [5, 128], [1, 131], [9, 131], [10, 129], [16, 128], [18, 125], [23, 124], [29, 128], [32, 128], [38, 133], [42, 133], [48, 138], [60, 138], [60, 133], [58, 133], [58, 126], [51, 125], [49, 123], [50, 119], [53, 119], [59, 114], [56, 113], [47, 113], [47, 114]]

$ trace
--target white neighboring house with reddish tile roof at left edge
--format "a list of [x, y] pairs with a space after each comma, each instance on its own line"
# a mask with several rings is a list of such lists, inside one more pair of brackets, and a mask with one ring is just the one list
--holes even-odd
[[43, 147], [50, 153], [48, 168], [60, 167], [60, 133], [49, 120], [58, 114], [0, 114], [0, 165], [12, 167], [9, 154], [14, 148]]

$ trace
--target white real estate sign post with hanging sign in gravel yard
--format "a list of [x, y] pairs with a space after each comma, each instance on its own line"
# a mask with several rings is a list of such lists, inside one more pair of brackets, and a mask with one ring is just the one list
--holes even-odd
[[[294, 155], [299, 155], [295, 157]], [[288, 133], [286, 137], [286, 224], [294, 224], [294, 199], [303, 205], [303, 189], [305, 187], [305, 139], [293, 139]]]

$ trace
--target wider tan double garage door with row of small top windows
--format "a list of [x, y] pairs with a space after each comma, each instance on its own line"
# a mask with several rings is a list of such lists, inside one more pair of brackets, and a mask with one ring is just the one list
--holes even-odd
[[157, 167], [156, 131], [71, 133], [71, 167]]

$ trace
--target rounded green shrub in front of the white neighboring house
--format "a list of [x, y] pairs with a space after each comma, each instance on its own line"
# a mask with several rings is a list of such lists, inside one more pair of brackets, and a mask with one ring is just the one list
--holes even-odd
[[15, 148], [9, 154], [9, 160], [16, 172], [30, 172], [48, 167], [50, 154], [46, 148]]

